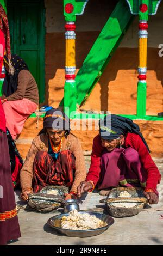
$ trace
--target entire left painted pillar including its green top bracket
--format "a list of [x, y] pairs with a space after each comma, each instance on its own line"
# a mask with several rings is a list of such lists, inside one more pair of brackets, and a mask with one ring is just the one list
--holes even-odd
[[[77, 109], [77, 86], [76, 86], [76, 15], [82, 15], [88, 0], [64, 0], [65, 16], [65, 87], [64, 87], [64, 111], [71, 114]], [[67, 111], [68, 109], [68, 111]]]

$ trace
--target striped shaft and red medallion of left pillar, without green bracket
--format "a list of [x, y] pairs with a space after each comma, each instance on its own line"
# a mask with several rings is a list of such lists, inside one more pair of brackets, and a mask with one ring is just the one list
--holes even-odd
[[[67, 3], [65, 5], [65, 13], [71, 14], [74, 11], [74, 5], [72, 3]], [[65, 87], [64, 87], [64, 111], [67, 113], [67, 108], [69, 113], [76, 111], [76, 25], [74, 19], [66, 20], [65, 25], [65, 44], [66, 44], [66, 54], [65, 54]]]

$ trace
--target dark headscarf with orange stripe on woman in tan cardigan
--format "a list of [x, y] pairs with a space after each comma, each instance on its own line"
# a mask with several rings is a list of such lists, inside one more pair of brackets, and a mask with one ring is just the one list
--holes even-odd
[[48, 110], [43, 119], [43, 129], [52, 128], [53, 130], [66, 131], [66, 135], [70, 133], [70, 119], [59, 108]]

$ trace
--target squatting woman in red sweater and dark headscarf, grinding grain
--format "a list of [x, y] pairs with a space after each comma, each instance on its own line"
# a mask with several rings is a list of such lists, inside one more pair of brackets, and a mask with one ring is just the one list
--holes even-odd
[[154, 204], [158, 203], [156, 187], [160, 180], [139, 126], [115, 114], [100, 120], [99, 135], [93, 139], [89, 173], [78, 186], [78, 196], [96, 186], [106, 196], [112, 187], [140, 186], [149, 203]]

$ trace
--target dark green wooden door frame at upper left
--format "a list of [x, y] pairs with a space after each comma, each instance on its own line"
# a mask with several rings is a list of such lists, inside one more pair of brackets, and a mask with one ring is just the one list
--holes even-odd
[[[23, 2], [22, 0], [14, 0], [15, 2]], [[8, 2], [8, 0], [3, 0]], [[40, 84], [39, 84], [39, 97], [40, 103], [45, 101], [45, 5], [44, 0], [26, 0], [26, 2], [41, 2], [41, 14], [40, 14]]]

